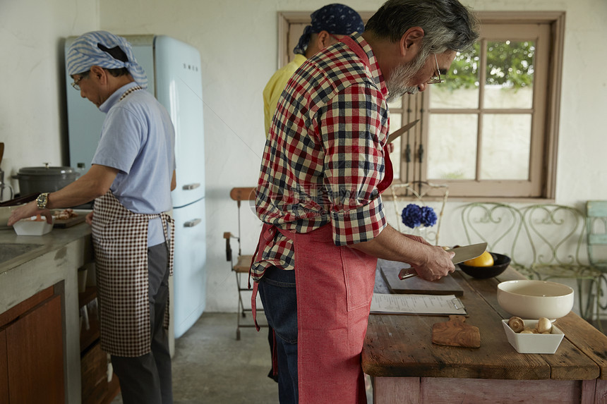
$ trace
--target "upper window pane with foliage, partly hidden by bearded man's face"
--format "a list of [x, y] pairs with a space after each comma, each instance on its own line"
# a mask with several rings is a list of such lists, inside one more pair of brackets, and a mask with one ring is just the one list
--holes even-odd
[[477, 108], [479, 106], [479, 44], [457, 52], [445, 82], [430, 86], [430, 108]]

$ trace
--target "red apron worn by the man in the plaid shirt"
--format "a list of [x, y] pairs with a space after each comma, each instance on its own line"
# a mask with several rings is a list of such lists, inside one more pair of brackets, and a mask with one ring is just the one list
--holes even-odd
[[[387, 151], [385, 156], [380, 192], [392, 182]], [[310, 233], [264, 224], [255, 261], [262, 259], [264, 247], [273, 242], [276, 231], [292, 239], [295, 250], [299, 403], [366, 403], [361, 353], [377, 257], [335, 245], [330, 224]], [[253, 319], [257, 290], [255, 283]]]

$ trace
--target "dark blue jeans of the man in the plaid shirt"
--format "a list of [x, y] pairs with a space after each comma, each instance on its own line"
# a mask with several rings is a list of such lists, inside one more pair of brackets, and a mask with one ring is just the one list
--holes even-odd
[[270, 267], [265, 271], [258, 288], [265, 317], [276, 333], [278, 399], [281, 404], [296, 404], [298, 393], [295, 271]]

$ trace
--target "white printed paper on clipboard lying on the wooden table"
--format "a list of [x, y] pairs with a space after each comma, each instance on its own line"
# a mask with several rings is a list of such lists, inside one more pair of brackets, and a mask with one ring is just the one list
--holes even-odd
[[373, 293], [371, 313], [462, 314], [466, 307], [455, 295], [394, 295]]

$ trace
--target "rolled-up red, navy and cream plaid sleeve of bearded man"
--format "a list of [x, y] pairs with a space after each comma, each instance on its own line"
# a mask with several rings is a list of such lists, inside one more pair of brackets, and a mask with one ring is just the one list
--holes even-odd
[[378, 191], [385, 174], [385, 101], [375, 87], [352, 85], [332, 97], [320, 114], [334, 242], [372, 240], [386, 226]]

